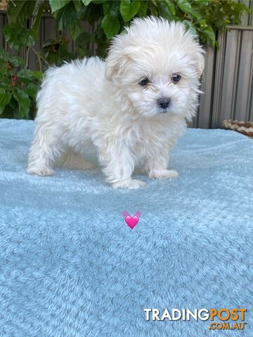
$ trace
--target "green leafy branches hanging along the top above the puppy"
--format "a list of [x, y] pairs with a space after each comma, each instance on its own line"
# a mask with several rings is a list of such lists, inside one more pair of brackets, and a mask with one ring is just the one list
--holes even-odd
[[[78, 44], [76, 53], [68, 58], [93, 55], [95, 45], [96, 53], [103, 57], [109, 40], [121, 33], [124, 25], [129, 25], [135, 17], [157, 15], [168, 20], [181, 20], [200, 37], [203, 44], [215, 46], [216, 33], [228, 24], [238, 25], [242, 14], [249, 11], [247, 6], [233, 0], [13, 0], [8, 4], [6, 40], [17, 49], [34, 45], [41, 14], [45, 10], [51, 11], [59, 34], [55, 41], [46, 41], [44, 55], [48, 62], [57, 63], [66, 57], [65, 42], [60, 41], [64, 39], [64, 29]], [[27, 18], [32, 18], [30, 29], [24, 27]], [[89, 31], [84, 29], [83, 21], [88, 22]], [[82, 45], [80, 37], [84, 33]], [[51, 48], [48, 48], [49, 45]], [[57, 54], [57, 57], [52, 54]]]

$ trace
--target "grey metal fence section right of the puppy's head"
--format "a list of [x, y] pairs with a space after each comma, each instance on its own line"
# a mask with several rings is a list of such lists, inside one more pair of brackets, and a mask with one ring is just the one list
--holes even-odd
[[[253, 119], [253, 27], [231, 27], [230, 32], [221, 34], [219, 44], [214, 63], [213, 104], [210, 106], [209, 126], [212, 128], [221, 127], [224, 119]], [[201, 100], [205, 101], [205, 97]], [[201, 102], [200, 115], [207, 113], [203, 106]]]

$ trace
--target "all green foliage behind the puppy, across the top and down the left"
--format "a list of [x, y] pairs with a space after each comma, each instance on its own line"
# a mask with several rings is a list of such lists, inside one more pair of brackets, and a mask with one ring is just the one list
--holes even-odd
[[[33, 119], [44, 70], [73, 58], [94, 54], [104, 58], [110, 39], [135, 17], [182, 21], [202, 44], [218, 47], [218, 33], [227, 25], [239, 25], [245, 12], [250, 13], [249, 8], [233, 0], [10, 0], [5, 48], [0, 48], [0, 117]], [[56, 20], [58, 34], [37, 51], [41, 18], [48, 13]], [[66, 30], [74, 41], [71, 52], [70, 40], [63, 34]], [[25, 62], [18, 56], [23, 48]], [[37, 71], [27, 69], [31, 51], [37, 57]]]

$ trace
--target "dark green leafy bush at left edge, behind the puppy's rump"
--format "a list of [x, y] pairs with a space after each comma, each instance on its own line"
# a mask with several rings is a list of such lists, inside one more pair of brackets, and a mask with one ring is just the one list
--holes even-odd
[[41, 72], [19, 70], [23, 60], [0, 48], [0, 117], [31, 119]]

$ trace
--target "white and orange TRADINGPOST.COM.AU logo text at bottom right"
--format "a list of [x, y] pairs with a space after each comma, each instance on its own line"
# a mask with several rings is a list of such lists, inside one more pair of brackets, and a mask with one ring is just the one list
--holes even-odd
[[[146, 321], [191, 321], [209, 320], [209, 330], [243, 330], [245, 329], [245, 313], [247, 309], [233, 308], [231, 310], [226, 308], [221, 309], [171, 309], [167, 308], [163, 311], [158, 309], [144, 309]], [[220, 322], [214, 322], [219, 320]]]

